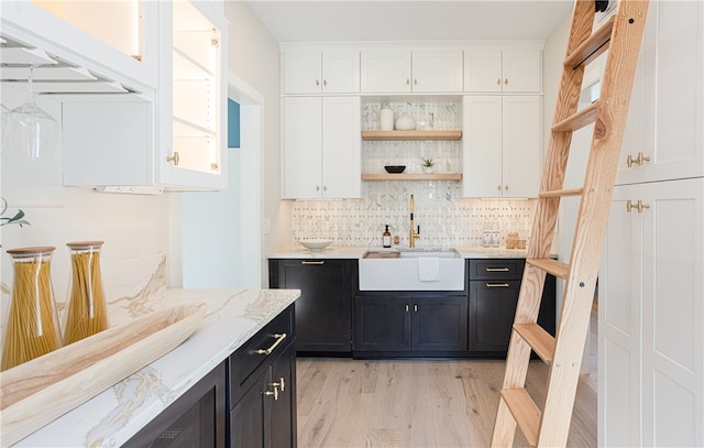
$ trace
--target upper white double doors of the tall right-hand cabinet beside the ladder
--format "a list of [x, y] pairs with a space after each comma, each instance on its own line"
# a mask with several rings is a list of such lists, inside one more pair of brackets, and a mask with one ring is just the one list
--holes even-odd
[[[637, 121], [627, 131], [641, 135], [635, 138], [635, 144], [624, 142], [618, 184], [704, 175], [702, 42], [704, 3], [660, 1], [648, 7], [641, 78], [635, 85], [642, 90], [634, 90], [629, 124], [631, 116]], [[628, 167], [627, 156], [637, 160], [639, 153], [649, 160]]]

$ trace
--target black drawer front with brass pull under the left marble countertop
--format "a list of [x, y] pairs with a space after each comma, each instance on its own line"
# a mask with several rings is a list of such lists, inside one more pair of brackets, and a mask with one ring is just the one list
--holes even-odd
[[235, 396], [239, 396], [241, 386], [257, 368], [277, 357], [294, 338], [294, 308], [288, 307], [230, 357], [233, 402]]

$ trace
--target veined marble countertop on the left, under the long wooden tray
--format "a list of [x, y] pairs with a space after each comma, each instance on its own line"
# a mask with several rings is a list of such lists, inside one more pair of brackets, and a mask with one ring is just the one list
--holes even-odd
[[205, 302], [208, 310], [201, 327], [176, 349], [13, 446], [114, 447], [124, 444], [299, 295], [298, 289], [164, 288], [155, 292], [132, 315], [175, 303]]

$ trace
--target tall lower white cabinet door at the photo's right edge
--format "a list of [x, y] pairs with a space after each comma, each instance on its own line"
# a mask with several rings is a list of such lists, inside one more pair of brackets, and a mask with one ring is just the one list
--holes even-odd
[[701, 447], [704, 178], [644, 184], [641, 197], [642, 445]]

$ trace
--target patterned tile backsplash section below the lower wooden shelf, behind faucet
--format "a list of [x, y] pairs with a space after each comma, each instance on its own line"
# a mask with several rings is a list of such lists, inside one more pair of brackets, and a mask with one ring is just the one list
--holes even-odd
[[460, 199], [459, 183], [375, 182], [361, 199], [295, 200], [292, 206], [292, 245], [300, 239], [330, 239], [338, 247], [380, 247], [388, 225], [400, 245], [408, 247], [410, 195], [415, 223], [420, 226], [417, 247], [482, 245], [485, 220], [496, 220], [502, 243], [506, 234], [528, 238], [537, 200]]

